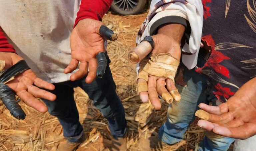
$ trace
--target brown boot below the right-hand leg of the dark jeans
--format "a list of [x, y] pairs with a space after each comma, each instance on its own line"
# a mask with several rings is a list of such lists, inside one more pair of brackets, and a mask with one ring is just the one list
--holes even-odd
[[119, 137], [112, 140], [111, 151], [126, 151], [127, 150], [127, 133], [124, 137]]

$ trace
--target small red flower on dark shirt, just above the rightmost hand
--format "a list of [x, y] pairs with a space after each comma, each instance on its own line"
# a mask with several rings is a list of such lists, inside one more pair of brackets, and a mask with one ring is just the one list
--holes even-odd
[[228, 99], [230, 96], [235, 94], [235, 92], [232, 92], [229, 87], [222, 87], [220, 83], [217, 83], [214, 87], [217, 91], [213, 92], [213, 94], [215, 94], [218, 100], [220, 100], [220, 96]]

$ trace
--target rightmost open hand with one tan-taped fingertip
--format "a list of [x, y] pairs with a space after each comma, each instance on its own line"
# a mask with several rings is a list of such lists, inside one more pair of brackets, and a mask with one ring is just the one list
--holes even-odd
[[[218, 135], [246, 139], [256, 134], [256, 77], [219, 106], [199, 104], [198, 125]], [[205, 112], [206, 111], [206, 112]]]

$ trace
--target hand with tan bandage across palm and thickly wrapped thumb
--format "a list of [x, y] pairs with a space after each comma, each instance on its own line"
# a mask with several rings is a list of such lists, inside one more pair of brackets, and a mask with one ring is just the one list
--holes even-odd
[[[158, 94], [168, 103], [173, 99], [176, 101], [181, 99], [175, 87], [174, 77], [180, 61], [180, 42], [184, 31], [185, 27], [181, 24], [165, 25], [156, 35], [151, 36], [153, 47], [152, 43], [142, 41], [128, 55], [132, 63], [140, 61], [137, 93], [142, 102], [147, 102], [149, 99], [156, 109], [161, 108]], [[146, 56], [149, 53], [148, 58]]]

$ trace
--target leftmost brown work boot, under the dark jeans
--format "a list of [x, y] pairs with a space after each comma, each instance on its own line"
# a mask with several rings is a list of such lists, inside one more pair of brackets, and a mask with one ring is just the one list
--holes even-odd
[[86, 135], [83, 133], [82, 137], [78, 140], [78, 142], [69, 142], [65, 140], [58, 145], [56, 151], [75, 151], [77, 147], [87, 139]]

